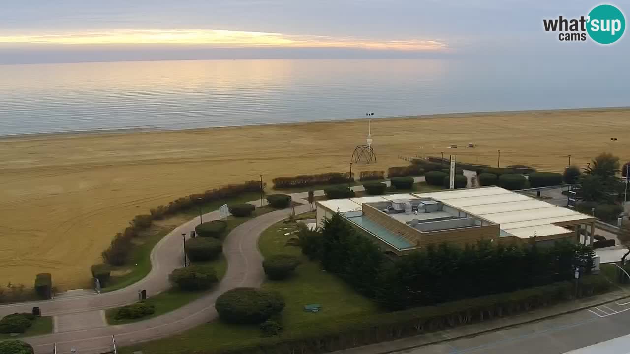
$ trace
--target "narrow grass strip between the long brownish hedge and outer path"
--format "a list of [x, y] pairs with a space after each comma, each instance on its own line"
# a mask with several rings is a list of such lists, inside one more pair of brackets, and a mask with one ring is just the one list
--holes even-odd
[[[219, 207], [225, 203], [251, 202], [252, 200], [256, 200], [256, 198], [260, 198], [260, 193], [244, 193], [238, 197], [205, 203], [201, 208], [202, 212], [205, 214], [219, 209]], [[155, 245], [169, 232], [173, 231], [176, 226], [186, 222], [186, 220], [193, 219], [195, 216], [198, 217], [198, 215], [199, 209], [192, 208], [186, 212], [181, 212], [166, 220], [162, 220], [149, 227], [147, 231], [142, 232], [142, 234], [134, 240], [135, 243], [130, 252], [127, 265], [113, 268], [112, 278], [107, 286], [103, 288], [103, 292], [110, 292], [127, 287], [146, 277], [149, 271], [151, 271], [151, 250]], [[172, 222], [169, 222], [170, 220], [172, 220]], [[116, 273], [120, 273], [121, 275], [116, 276]]]

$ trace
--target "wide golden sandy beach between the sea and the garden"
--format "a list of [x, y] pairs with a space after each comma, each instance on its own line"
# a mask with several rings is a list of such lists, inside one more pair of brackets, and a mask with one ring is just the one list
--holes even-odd
[[[0, 139], [0, 282], [31, 286], [50, 272], [61, 289], [87, 286], [89, 266], [134, 215], [259, 174], [347, 171], [366, 134], [359, 120]], [[568, 155], [630, 160], [630, 108], [386, 118], [372, 120], [372, 136], [377, 163], [353, 171], [441, 152], [496, 165], [498, 150], [501, 166], [562, 171]]]

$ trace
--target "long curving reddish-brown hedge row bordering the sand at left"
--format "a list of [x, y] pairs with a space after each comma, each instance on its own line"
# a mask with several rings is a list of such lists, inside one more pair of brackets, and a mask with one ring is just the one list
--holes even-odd
[[159, 205], [149, 210], [148, 215], [137, 215], [131, 222], [130, 226], [125, 228], [123, 232], [118, 232], [110, 246], [101, 253], [105, 263], [114, 266], [124, 265], [129, 257], [129, 251], [132, 249], [132, 239], [137, 237], [140, 232], [151, 226], [153, 220], [161, 220], [168, 215], [177, 214], [183, 210], [198, 205], [203, 205], [215, 200], [236, 197], [246, 192], [260, 191], [261, 187], [265, 188], [265, 183], [260, 185], [260, 181], [247, 181], [239, 185], [227, 185], [213, 190], [207, 190], [203, 193], [191, 194], [186, 197], [177, 198], [168, 205]]

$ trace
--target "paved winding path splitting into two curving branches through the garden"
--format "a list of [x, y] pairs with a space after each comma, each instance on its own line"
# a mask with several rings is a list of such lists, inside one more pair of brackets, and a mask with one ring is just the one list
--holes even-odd
[[[424, 178], [418, 177], [415, 180], [416, 182], [423, 181]], [[364, 190], [363, 186], [354, 186], [352, 189]], [[315, 195], [323, 195], [323, 191], [315, 191]], [[296, 214], [309, 211], [306, 200], [302, 199], [306, 196], [306, 192], [292, 194], [295, 202], [302, 203], [295, 207]], [[249, 203], [260, 207], [260, 200]], [[291, 209], [277, 210], [248, 220], [234, 228], [224, 243], [223, 252], [228, 266], [221, 282], [207, 295], [175, 311], [145, 321], [106, 326], [101, 310], [136, 302], [137, 292], [140, 289], [146, 289], [149, 296], [168, 290], [171, 287], [168, 275], [171, 271], [183, 266], [183, 244], [180, 236], [182, 233], [190, 234], [190, 231], [198, 224], [197, 219], [176, 227], [157, 243], [151, 251], [151, 271], [142, 280], [129, 287], [103, 294], [0, 305], [0, 317], [13, 312], [30, 312], [32, 307], [38, 306], [42, 309], [44, 316], [55, 316], [55, 329], [60, 327], [57, 319], [64, 318], [65, 322], [61, 327], [65, 329], [57, 333], [23, 338], [24, 341], [33, 345], [37, 354], [52, 353], [53, 343], [57, 343], [58, 354], [69, 354], [71, 348], [76, 348], [77, 354], [107, 352], [111, 348], [112, 335], [116, 336], [119, 346], [172, 336], [217, 317], [214, 302], [227, 290], [234, 287], [260, 287], [264, 280], [264, 272], [261, 265], [263, 258], [258, 251], [258, 237], [261, 232], [285, 219], [291, 212]], [[203, 220], [217, 219], [219, 219], [218, 211], [203, 215]]]

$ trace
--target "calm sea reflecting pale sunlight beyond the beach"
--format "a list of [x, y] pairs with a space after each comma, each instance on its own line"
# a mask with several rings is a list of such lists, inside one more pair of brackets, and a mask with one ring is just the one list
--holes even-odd
[[[0, 66], [0, 135], [627, 106], [627, 73], [544, 60], [191, 60]], [[603, 81], [598, 84], [598, 81]]]

